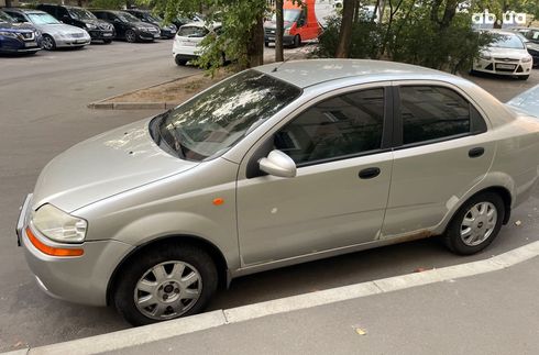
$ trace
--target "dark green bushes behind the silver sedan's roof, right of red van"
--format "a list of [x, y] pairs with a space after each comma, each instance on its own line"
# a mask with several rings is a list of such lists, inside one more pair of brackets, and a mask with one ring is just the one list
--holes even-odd
[[[447, 3], [447, 2], [446, 2]], [[451, 73], [466, 71], [480, 49], [491, 43], [492, 35], [472, 29], [469, 13], [457, 13], [442, 22], [446, 3], [432, 7], [403, 3], [391, 21], [382, 24], [358, 21], [353, 24], [352, 58], [380, 58], [421, 65]], [[433, 15], [437, 11], [438, 15]], [[318, 55], [332, 57], [337, 48], [340, 19], [329, 22], [320, 37]]]

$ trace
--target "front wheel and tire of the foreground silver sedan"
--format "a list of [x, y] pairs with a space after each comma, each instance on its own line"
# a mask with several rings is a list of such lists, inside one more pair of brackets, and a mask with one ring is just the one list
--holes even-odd
[[182, 244], [150, 248], [129, 262], [121, 274], [114, 306], [135, 326], [200, 312], [218, 285], [216, 265], [208, 253]]

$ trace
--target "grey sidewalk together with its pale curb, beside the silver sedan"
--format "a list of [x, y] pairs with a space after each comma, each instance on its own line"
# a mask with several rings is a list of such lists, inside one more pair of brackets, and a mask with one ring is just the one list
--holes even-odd
[[538, 354], [538, 255], [535, 242], [480, 262], [208, 312], [29, 354]]

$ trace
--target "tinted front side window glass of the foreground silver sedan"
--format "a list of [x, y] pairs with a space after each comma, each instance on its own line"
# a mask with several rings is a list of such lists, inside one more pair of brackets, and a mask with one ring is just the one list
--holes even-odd
[[333, 159], [382, 147], [384, 89], [324, 100], [275, 134], [275, 148], [296, 164]]

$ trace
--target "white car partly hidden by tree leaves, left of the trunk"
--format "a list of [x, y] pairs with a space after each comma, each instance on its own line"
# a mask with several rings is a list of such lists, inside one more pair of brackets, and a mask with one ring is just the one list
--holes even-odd
[[210, 33], [219, 34], [221, 24], [219, 22], [208, 26], [206, 22], [191, 22], [179, 27], [174, 37], [173, 57], [177, 65], [186, 65], [187, 62], [196, 59], [200, 55], [200, 43]]

